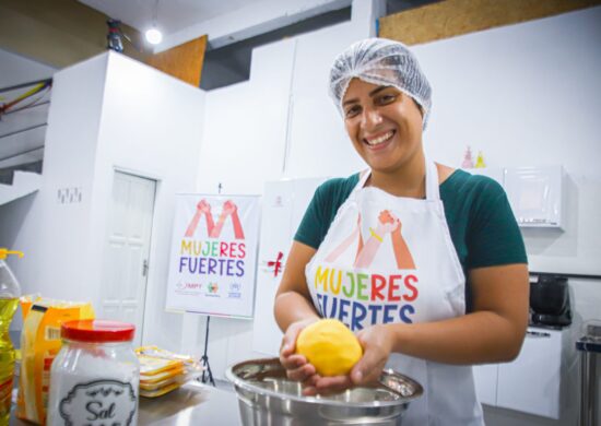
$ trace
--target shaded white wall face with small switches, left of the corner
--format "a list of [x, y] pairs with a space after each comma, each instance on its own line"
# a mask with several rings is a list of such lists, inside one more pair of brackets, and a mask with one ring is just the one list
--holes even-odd
[[[84, 296], [85, 287], [79, 285], [83, 262], [64, 260], [87, 246], [90, 170], [94, 167], [106, 59], [97, 57], [55, 74], [43, 186], [37, 194], [2, 209], [1, 222], [14, 234], [11, 246], [25, 251], [22, 260], [13, 262], [24, 294], [40, 292], [70, 299]], [[59, 204], [58, 189], [70, 187], [81, 189], [82, 202]], [[76, 285], [72, 288], [64, 285], [73, 280]]]

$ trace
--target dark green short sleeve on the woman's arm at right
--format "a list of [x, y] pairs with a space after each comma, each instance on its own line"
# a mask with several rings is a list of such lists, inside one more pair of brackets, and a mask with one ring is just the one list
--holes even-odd
[[523, 239], [503, 187], [482, 179], [467, 232], [468, 269], [527, 263]]

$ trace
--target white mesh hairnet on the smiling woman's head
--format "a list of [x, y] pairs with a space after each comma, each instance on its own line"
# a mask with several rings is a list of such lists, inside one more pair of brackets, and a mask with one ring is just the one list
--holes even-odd
[[330, 70], [330, 96], [342, 115], [342, 98], [353, 78], [394, 86], [411, 96], [423, 109], [423, 129], [426, 128], [432, 88], [417, 59], [405, 45], [386, 38], [366, 38], [335, 58]]

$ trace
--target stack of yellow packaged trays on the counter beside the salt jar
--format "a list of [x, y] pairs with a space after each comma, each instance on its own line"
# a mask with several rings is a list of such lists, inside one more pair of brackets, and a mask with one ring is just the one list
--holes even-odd
[[140, 362], [140, 395], [156, 398], [179, 388], [202, 375], [202, 366], [186, 355], [174, 354], [157, 346], [135, 350]]

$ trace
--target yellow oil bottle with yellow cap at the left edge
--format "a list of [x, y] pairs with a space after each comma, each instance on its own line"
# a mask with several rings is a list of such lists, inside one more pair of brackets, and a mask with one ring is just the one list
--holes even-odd
[[11, 414], [15, 353], [9, 326], [21, 296], [19, 282], [4, 262], [9, 255], [23, 257], [21, 251], [0, 248], [0, 425], [8, 425]]

